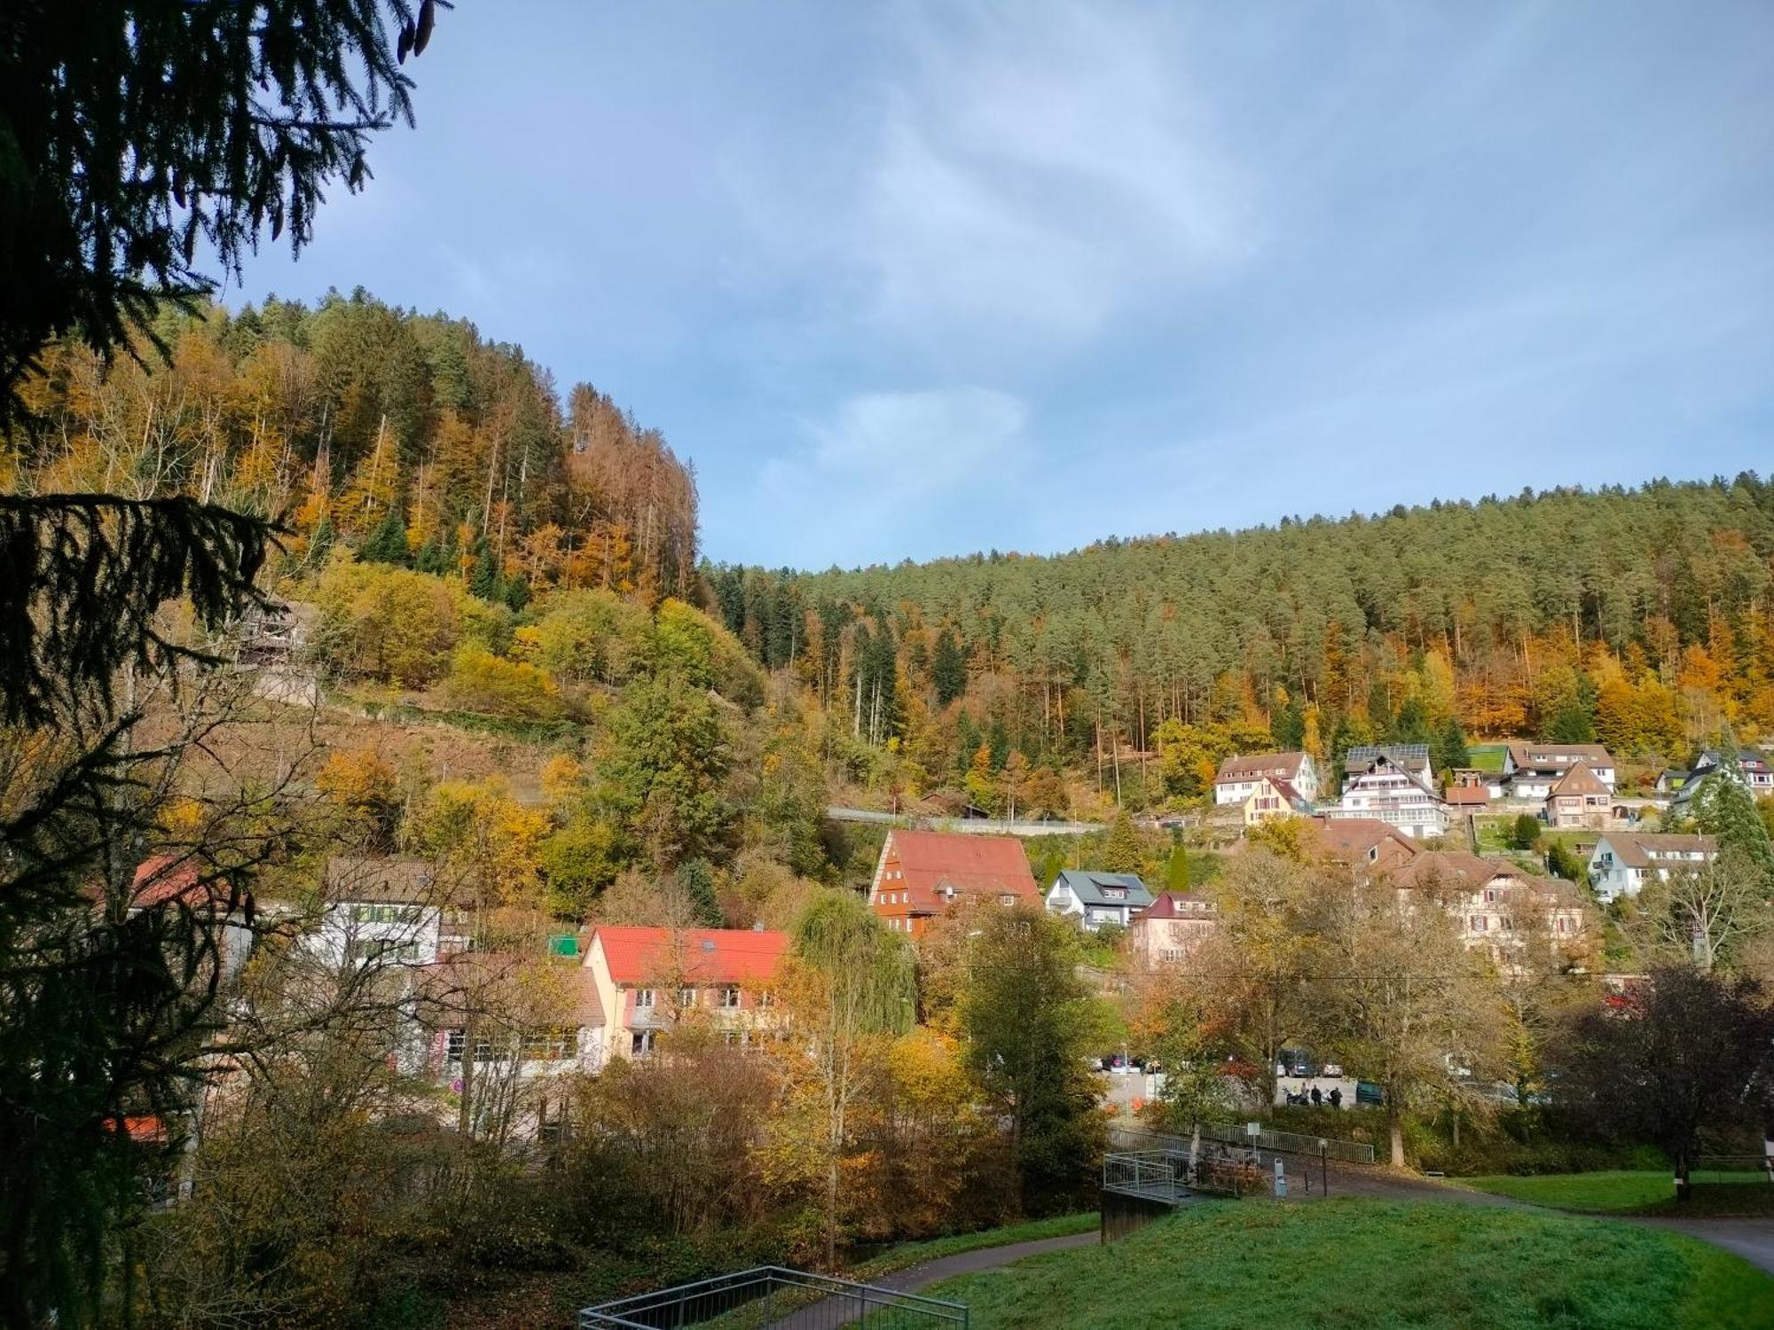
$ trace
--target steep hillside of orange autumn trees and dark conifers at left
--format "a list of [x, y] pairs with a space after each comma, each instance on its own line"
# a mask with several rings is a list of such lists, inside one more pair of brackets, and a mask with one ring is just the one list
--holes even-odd
[[50, 346], [0, 452], [9, 489], [188, 493], [282, 518], [298, 566], [346, 541], [424, 571], [605, 587], [649, 603], [695, 578], [695, 482], [656, 433], [518, 346], [362, 289], [167, 310], [170, 362]]

